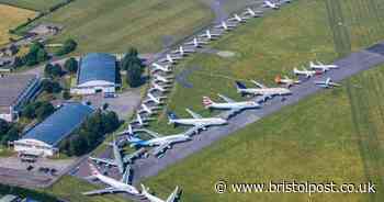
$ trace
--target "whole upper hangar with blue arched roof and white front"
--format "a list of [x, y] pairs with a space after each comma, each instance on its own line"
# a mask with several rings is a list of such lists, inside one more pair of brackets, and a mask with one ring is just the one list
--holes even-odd
[[110, 54], [91, 53], [80, 58], [77, 86], [72, 94], [115, 93], [116, 57]]

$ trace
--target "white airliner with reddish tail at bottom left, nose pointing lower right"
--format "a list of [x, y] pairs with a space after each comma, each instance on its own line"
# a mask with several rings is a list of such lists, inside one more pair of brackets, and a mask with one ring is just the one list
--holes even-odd
[[99, 172], [99, 170], [92, 165], [89, 164], [92, 176], [87, 179], [98, 179], [109, 187], [101, 190], [88, 191], [83, 192], [84, 195], [94, 195], [94, 194], [104, 194], [104, 193], [116, 193], [116, 192], [125, 192], [133, 195], [140, 195], [140, 192], [133, 186], [129, 184], [129, 169], [125, 169], [123, 178], [118, 181], [113, 178], [103, 176]]

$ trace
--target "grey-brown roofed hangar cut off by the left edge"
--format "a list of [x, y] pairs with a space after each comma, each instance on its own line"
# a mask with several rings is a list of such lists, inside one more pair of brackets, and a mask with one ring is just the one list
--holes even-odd
[[23, 105], [37, 94], [41, 80], [36, 75], [1, 76], [0, 119], [15, 121]]

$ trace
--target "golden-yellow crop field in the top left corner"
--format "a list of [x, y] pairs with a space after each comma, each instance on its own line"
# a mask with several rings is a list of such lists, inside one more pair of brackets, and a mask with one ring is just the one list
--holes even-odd
[[0, 4], [0, 45], [9, 43], [10, 37], [15, 37], [9, 33], [9, 30], [35, 15], [36, 12], [34, 11]]

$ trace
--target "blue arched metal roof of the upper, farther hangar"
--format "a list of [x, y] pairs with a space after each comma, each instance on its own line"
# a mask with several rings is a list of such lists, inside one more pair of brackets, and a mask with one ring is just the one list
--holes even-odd
[[78, 85], [102, 80], [115, 83], [116, 57], [110, 54], [92, 53], [80, 60]]

